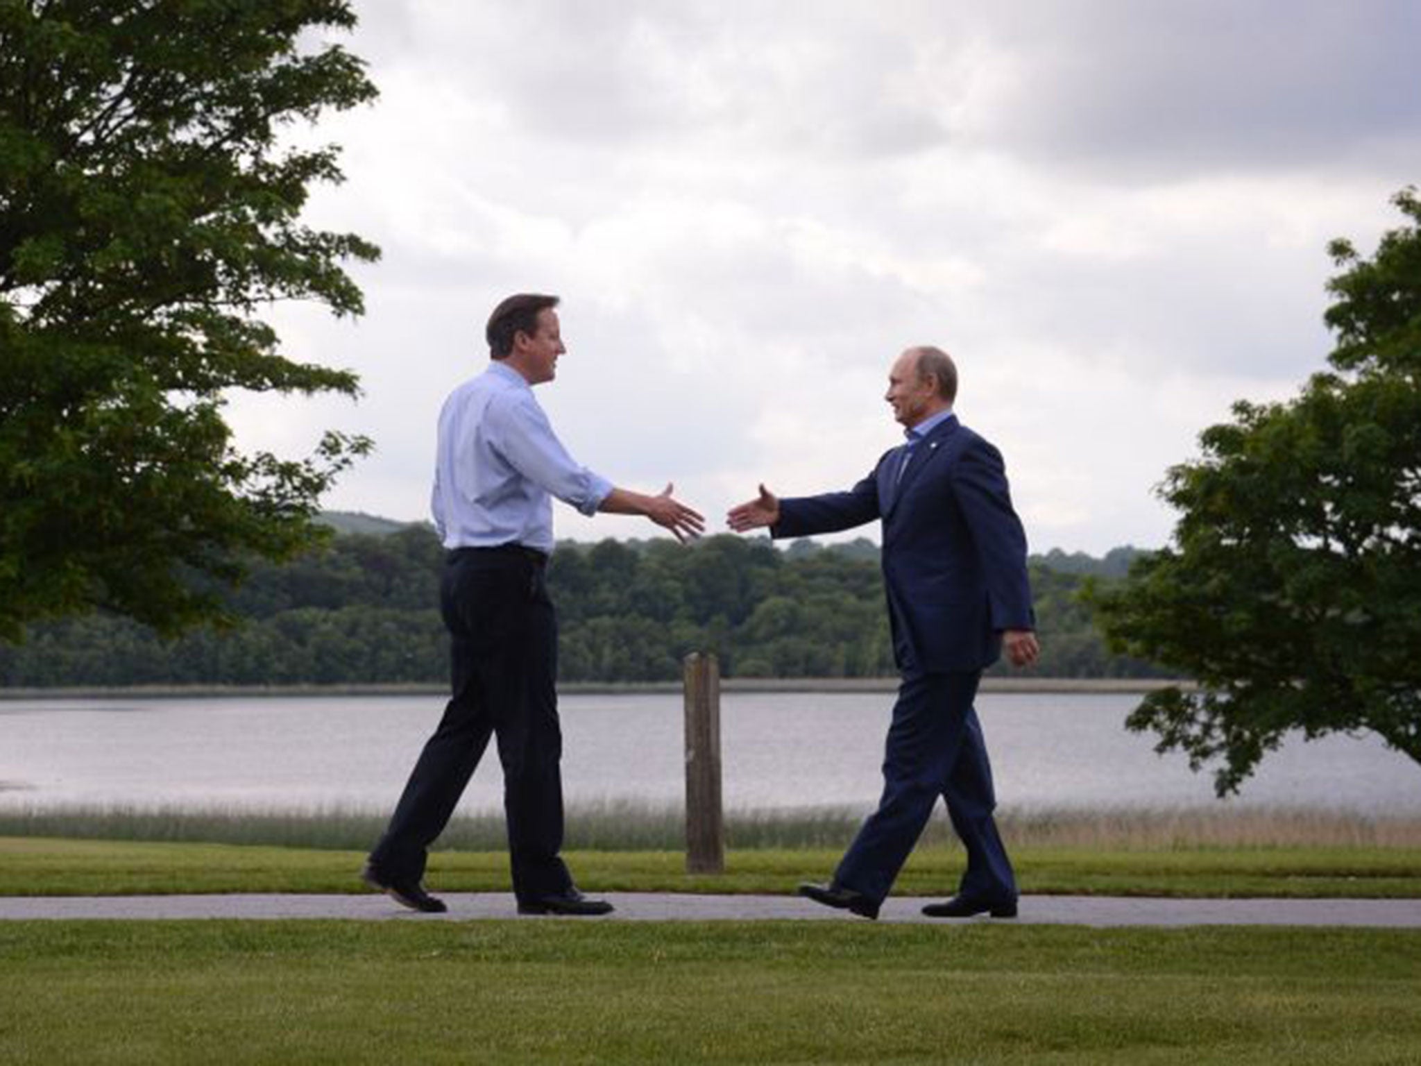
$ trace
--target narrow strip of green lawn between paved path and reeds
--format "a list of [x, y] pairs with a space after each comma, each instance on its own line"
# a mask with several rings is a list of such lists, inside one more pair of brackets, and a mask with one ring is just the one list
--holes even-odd
[[[838, 850], [743, 850], [722, 877], [688, 877], [675, 851], [571, 851], [590, 891], [791, 893], [827, 878]], [[1421, 897], [1421, 849], [1279, 847], [1179, 851], [1020, 849], [1025, 893], [1120, 895]], [[360, 851], [0, 837], [0, 895], [361, 891]], [[904, 895], [949, 894], [962, 851], [919, 849]], [[435, 891], [507, 891], [502, 851], [436, 851]]]

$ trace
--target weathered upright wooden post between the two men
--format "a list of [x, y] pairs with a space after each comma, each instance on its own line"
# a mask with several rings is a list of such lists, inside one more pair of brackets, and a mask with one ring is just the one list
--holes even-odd
[[685, 658], [686, 873], [725, 873], [720, 807], [720, 664], [698, 651]]

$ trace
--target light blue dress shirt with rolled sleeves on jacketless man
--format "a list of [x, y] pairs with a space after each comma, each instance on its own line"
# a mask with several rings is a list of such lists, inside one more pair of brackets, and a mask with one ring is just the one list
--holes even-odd
[[431, 509], [446, 549], [551, 553], [551, 497], [594, 515], [611, 490], [573, 461], [527, 381], [502, 362], [459, 385], [439, 412]]

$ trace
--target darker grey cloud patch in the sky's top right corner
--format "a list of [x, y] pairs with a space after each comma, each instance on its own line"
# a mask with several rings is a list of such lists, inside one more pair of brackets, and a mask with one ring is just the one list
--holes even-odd
[[1030, 10], [996, 21], [1019, 80], [978, 117], [979, 144], [1144, 178], [1421, 162], [1421, 7], [1410, 0]]

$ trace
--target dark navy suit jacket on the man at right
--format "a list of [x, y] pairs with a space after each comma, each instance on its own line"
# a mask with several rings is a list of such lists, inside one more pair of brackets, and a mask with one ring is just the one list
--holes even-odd
[[1033, 630], [1026, 534], [1002, 455], [956, 416], [902, 448], [848, 492], [780, 500], [774, 537], [834, 533], [882, 519], [882, 571], [894, 658], [905, 674], [975, 671], [1003, 630]]

